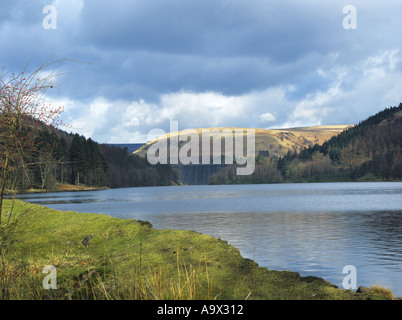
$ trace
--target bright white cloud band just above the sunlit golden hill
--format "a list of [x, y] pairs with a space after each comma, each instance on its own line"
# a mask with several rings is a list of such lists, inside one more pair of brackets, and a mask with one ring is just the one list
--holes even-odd
[[[68, 98], [48, 99], [65, 106], [62, 118], [69, 128], [98, 142], [142, 142], [152, 129], [169, 131], [170, 121], [179, 130], [202, 127], [255, 127], [255, 121], [274, 121], [268, 106], [286, 103], [283, 89], [267, 89], [242, 96], [226, 96], [217, 92], [175, 92], [162, 95], [158, 102], [117, 100], [97, 97], [83, 103]], [[285, 108], [286, 109], [286, 108]], [[284, 111], [285, 111], [284, 109]], [[261, 112], [263, 111], [263, 112]], [[63, 129], [63, 128], [62, 128]], [[68, 131], [68, 130], [66, 130]]]

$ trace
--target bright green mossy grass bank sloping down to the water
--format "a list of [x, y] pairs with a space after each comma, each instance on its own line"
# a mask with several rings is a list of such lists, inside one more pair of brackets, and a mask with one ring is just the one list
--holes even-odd
[[[0, 299], [367, 299], [259, 267], [225, 241], [149, 222], [5, 202]], [[85, 239], [85, 240], [84, 240]], [[56, 267], [57, 289], [43, 288]], [[50, 275], [50, 274], [49, 274]]]

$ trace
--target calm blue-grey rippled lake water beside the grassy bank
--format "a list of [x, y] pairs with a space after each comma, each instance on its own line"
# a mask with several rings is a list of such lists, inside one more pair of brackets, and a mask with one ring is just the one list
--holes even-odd
[[177, 186], [21, 195], [58, 210], [150, 221], [227, 240], [260, 266], [402, 296], [402, 183]]

